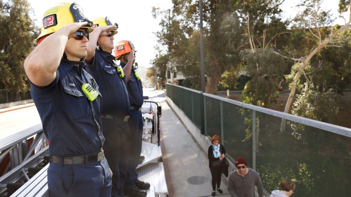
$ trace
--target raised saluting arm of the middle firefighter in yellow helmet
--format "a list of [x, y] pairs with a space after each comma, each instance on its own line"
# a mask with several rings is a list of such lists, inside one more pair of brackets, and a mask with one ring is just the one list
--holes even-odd
[[114, 25], [109, 25], [109, 26], [99, 26], [94, 29], [92, 33], [89, 34], [89, 42], [87, 44], [88, 46], [88, 51], [87, 51], [87, 56], [85, 57], [85, 61], [92, 64], [92, 60], [95, 56], [95, 48], [98, 43], [99, 36], [105, 36], [107, 35], [107, 32], [112, 31], [114, 29], [117, 29], [116, 26]]

